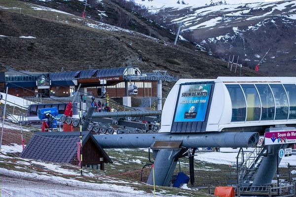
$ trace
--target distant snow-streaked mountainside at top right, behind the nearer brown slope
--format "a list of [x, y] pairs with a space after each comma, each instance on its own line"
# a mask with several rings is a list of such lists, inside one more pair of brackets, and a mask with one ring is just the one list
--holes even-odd
[[[181, 36], [227, 60], [254, 68], [271, 48], [259, 70], [269, 75], [294, 76], [296, 57], [296, 0], [175, 0], [135, 1], [150, 17]], [[196, 3], [198, 2], [198, 4]], [[181, 39], [181, 38], [180, 38]]]

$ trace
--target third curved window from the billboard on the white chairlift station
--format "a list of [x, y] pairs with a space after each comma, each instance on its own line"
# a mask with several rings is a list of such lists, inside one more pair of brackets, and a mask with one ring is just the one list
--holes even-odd
[[256, 85], [262, 105], [261, 120], [273, 120], [274, 119], [274, 99], [271, 90], [267, 84]]

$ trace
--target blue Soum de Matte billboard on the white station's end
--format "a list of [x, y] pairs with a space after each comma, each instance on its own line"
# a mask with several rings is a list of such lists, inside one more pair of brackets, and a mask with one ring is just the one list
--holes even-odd
[[212, 84], [182, 85], [175, 122], [202, 122], [205, 120]]

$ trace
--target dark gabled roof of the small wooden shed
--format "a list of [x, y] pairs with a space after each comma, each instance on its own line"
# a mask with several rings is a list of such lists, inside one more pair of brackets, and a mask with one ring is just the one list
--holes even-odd
[[[28, 145], [21, 153], [22, 158], [42, 160], [45, 162], [77, 164], [77, 142], [80, 141], [80, 132], [35, 132]], [[95, 140], [90, 131], [82, 132], [82, 146], [92, 138], [97, 148], [104, 154], [109, 163], [112, 163], [107, 153]], [[50, 149], [50, 151], [48, 151]]]

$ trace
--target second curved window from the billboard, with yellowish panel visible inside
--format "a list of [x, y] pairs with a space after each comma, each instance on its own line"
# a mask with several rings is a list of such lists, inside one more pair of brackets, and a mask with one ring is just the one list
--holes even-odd
[[260, 120], [260, 100], [253, 84], [242, 84], [247, 99], [247, 121]]

